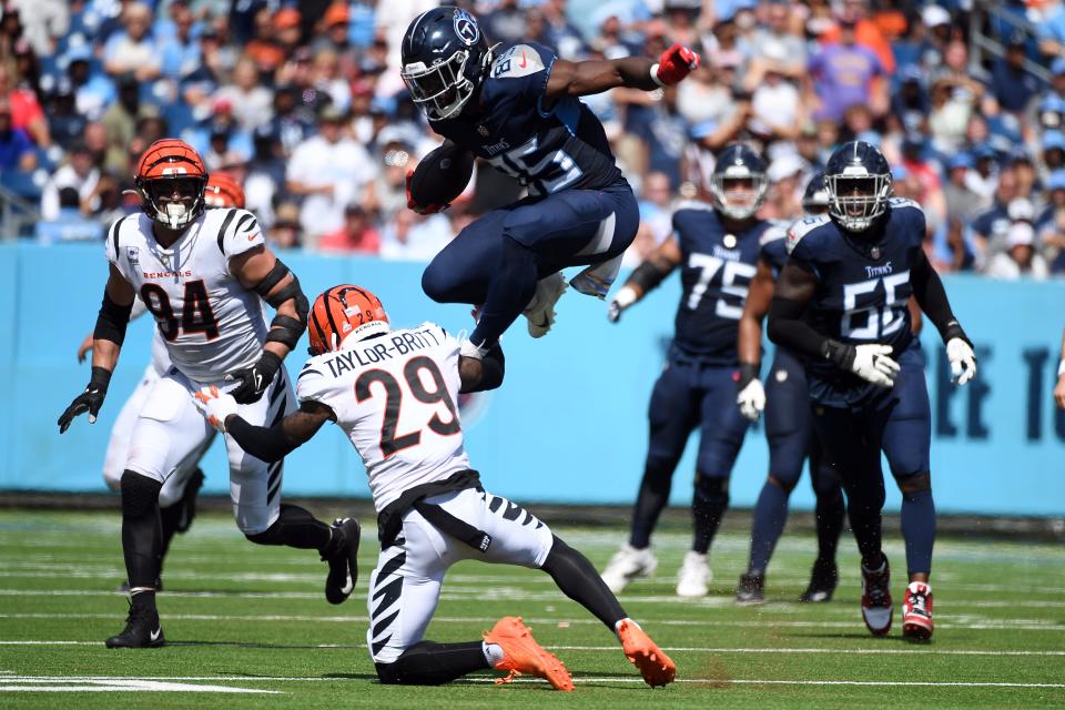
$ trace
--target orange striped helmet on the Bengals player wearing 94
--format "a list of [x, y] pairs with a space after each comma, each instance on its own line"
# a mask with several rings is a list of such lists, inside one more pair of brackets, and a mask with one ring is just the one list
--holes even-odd
[[136, 165], [134, 182], [142, 209], [155, 222], [181, 229], [203, 212], [207, 169], [184, 141], [164, 138], [148, 146]]

